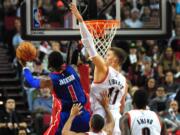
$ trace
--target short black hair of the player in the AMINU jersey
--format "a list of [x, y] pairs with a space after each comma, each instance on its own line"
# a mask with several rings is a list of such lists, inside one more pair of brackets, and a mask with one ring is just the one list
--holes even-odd
[[148, 95], [145, 90], [137, 90], [133, 95], [133, 104], [137, 109], [143, 109], [148, 104]]

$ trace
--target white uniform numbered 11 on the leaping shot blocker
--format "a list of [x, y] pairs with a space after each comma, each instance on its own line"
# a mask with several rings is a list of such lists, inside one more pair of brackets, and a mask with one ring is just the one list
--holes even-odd
[[125, 77], [113, 69], [112, 67], [108, 68], [108, 73], [103, 80], [103, 82], [93, 82], [91, 85], [91, 92], [90, 92], [90, 102], [91, 102], [91, 109], [93, 114], [99, 114], [103, 118], [106, 118], [105, 111], [101, 104], [97, 101], [97, 98], [100, 98], [100, 93], [104, 90], [108, 90], [108, 94], [110, 95], [110, 111], [115, 120], [115, 127], [113, 131], [113, 135], [119, 135], [119, 119], [121, 117], [119, 108], [121, 105], [121, 99], [125, 94], [125, 87], [126, 87], [126, 79]]

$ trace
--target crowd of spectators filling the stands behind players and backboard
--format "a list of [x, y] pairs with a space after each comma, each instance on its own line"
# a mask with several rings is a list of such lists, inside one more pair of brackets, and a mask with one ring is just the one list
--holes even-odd
[[[8, 48], [11, 61], [14, 68], [18, 70], [17, 76], [21, 78], [21, 66], [15, 59], [15, 49], [23, 41], [21, 38], [21, 22], [19, 14], [19, 6], [22, 0], [4, 0], [0, 3], [0, 41]], [[133, 5], [131, 0], [121, 0], [122, 22], [123, 27], [142, 28], [142, 27], [159, 27], [159, 0], [137, 0], [138, 3]], [[60, 25], [57, 22], [64, 18], [59, 12], [65, 13], [65, 8], [61, 3], [59, 7], [52, 5], [51, 0], [41, 0], [41, 8], [45, 15], [44, 20], [51, 20], [52, 25]], [[97, 0], [99, 7], [103, 5], [103, 0]], [[108, 0], [104, 0], [108, 2]], [[168, 131], [173, 132], [180, 126], [180, 26], [178, 26], [178, 17], [175, 15], [175, 2], [172, 1], [172, 26], [173, 35], [170, 39], [164, 40], [128, 40], [113, 42], [113, 46], [123, 48], [128, 56], [122, 66], [121, 72], [128, 80], [129, 91], [126, 98], [125, 112], [132, 109], [132, 96], [138, 89], [144, 89], [148, 92], [149, 109], [159, 114], [167, 123]], [[57, 13], [52, 14], [52, 10], [56, 8]], [[113, 14], [113, 13], [112, 13]], [[59, 15], [57, 17], [56, 15]], [[111, 14], [106, 15], [111, 18]], [[113, 16], [113, 15], [112, 15]], [[1, 19], [2, 18], [2, 19]], [[49, 19], [51, 18], [51, 19]], [[152, 25], [150, 25], [152, 24]], [[61, 24], [64, 25], [64, 24]], [[49, 73], [47, 66], [47, 56], [52, 51], [60, 51], [64, 61], [75, 66], [78, 64], [89, 64], [86, 52], [83, 45], [79, 41], [73, 41], [68, 54], [68, 41], [39, 41], [34, 42], [38, 50], [38, 58], [33, 63], [28, 63], [28, 66], [33, 71], [34, 76], [46, 76]], [[68, 55], [67, 55], [68, 54]], [[93, 70], [93, 67], [90, 69]], [[92, 80], [92, 74], [89, 75]], [[23, 80], [23, 79], [22, 79]], [[48, 125], [42, 125], [45, 117], [49, 118], [52, 108], [52, 96], [49, 89], [30, 88], [25, 80], [22, 81], [23, 90], [27, 94], [29, 111], [32, 112], [35, 121], [35, 131], [42, 134]], [[9, 102], [15, 101], [8, 99], [5, 107], [8, 108]], [[12, 104], [12, 103], [11, 103]], [[16, 123], [21, 122], [23, 129], [26, 124], [19, 119], [18, 114], [13, 110], [14, 126], [11, 121], [6, 121], [7, 132], [12, 129], [16, 131]], [[0, 127], [3, 128], [3, 115], [7, 112], [0, 113]], [[46, 115], [45, 115], [46, 114]], [[45, 117], [44, 117], [45, 116]], [[8, 118], [8, 117], [7, 117]], [[7, 120], [12, 120], [8, 118]], [[16, 121], [17, 120], [17, 121]], [[48, 121], [50, 122], [50, 120]], [[48, 123], [47, 122], [47, 123]], [[46, 122], [45, 122], [46, 123]], [[20, 124], [19, 124], [20, 126]], [[37, 130], [38, 129], [38, 130]], [[42, 129], [42, 130], [40, 130]], [[19, 130], [19, 134], [25, 134], [24, 130]], [[4, 133], [4, 131], [3, 131]], [[8, 133], [7, 133], [8, 134]]]

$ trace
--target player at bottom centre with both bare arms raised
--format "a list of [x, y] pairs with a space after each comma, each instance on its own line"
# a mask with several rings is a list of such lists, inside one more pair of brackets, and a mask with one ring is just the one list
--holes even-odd
[[[89, 122], [90, 131], [86, 133], [76, 133], [74, 131], [71, 131], [71, 125], [73, 120], [78, 117], [79, 114], [81, 114], [81, 105], [80, 104], [74, 104], [70, 116], [66, 122], [66, 124], [63, 127], [62, 135], [112, 135], [113, 128], [114, 128], [114, 118], [109, 110], [109, 97], [107, 91], [103, 91], [100, 93], [102, 96], [102, 99], [98, 99], [98, 102], [103, 106], [107, 122], [105, 124], [105, 120], [103, 117], [101, 117], [99, 114], [94, 114]], [[83, 115], [83, 114], [82, 114]]]

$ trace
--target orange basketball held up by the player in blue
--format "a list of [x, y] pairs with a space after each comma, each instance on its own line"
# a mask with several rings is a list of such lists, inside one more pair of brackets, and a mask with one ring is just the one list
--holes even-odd
[[16, 57], [23, 61], [32, 61], [37, 56], [37, 50], [31, 42], [22, 42], [16, 49]]

